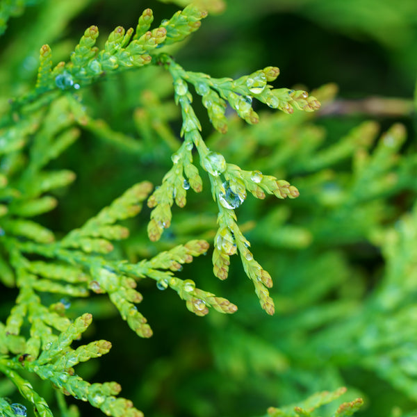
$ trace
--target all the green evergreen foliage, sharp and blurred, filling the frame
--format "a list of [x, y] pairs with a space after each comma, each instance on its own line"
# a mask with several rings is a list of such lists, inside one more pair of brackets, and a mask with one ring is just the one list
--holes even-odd
[[[77, 28], [70, 45], [64, 29], [88, 3], [0, 5], [0, 31], [25, 6], [38, 10], [28, 44], [9, 22], [17, 47], [0, 65], [0, 415], [250, 416], [290, 403], [265, 417], [411, 417], [401, 410], [417, 402], [411, 100], [358, 107], [403, 116], [381, 128], [352, 117], [334, 84], [275, 88], [279, 69], [251, 67], [250, 44], [248, 75], [187, 70], [200, 65], [187, 58], [193, 42], [216, 32], [190, 35], [220, 0], [174, 1], [183, 9], [159, 25], [165, 6], [147, 8], [136, 29], [107, 38], [100, 24]], [[307, 3], [298, 13], [311, 20], [332, 11], [343, 33], [360, 26], [400, 44], [373, 17], [347, 25], [373, 1]], [[401, 10], [413, 6], [400, 3], [411, 25]], [[288, 2], [236, 5], [227, 27]], [[29, 47], [40, 47], [38, 65]], [[194, 322], [182, 302], [195, 316], [226, 314]], [[92, 360], [104, 354], [107, 373]], [[131, 400], [103, 382], [120, 378]]]

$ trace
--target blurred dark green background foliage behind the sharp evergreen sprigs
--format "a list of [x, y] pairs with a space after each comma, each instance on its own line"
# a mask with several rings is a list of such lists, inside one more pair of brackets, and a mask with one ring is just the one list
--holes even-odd
[[[10, 97], [33, 86], [42, 44], [51, 45], [54, 63], [67, 60], [88, 26], [97, 25], [104, 42], [115, 26], [136, 27], [147, 7], [154, 10], [156, 23], [178, 10], [158, 1], [45, 0], [10, 19], [0, 46], [0, 110], [6, 111]], [[101, 306], [101, 297], [74, 300], [73, 316], [97, 309], [94, 329], [86, 337], [113, 343], [105, 357], [79, 366], [80, 374], [90, 382], [120, 382], [122, 395], [154, 417], [262, 415], [269, 406], [343, 385], [348, 388], [343, 400], [362, 396], [366, 402], [358, 416], [415, 415], [417, 220], [412, 210], [417, 164], [412, 101], [417, 2], [229, 0], [222, 13], [209, 15], [172, 54], [186, 70], [216, 77], [237, 78], [275, 65], [281, 70], [277, 88], [313, 90], [336, 83], [338, 106], [327, 107], [327, 114], [287, 116], [259, 105], [259, 126], [248, 128], [231, 116], [229, 133], [220, 137], [195, 97], [211, 149], [222, 152], [229, 163], [274, 174], [300, 189], [293, 201], [248, 197], [236, 211], [255, 259], [275, 281], [271, 295], [277, 313], [269, 317], [261, 310], [236, 257], [227, 281], [218, 281], [208, 252], [186, 265], [179, 277], [227, 297], [238, 305], [237, 313], [198, 318], [176, 294], [158, 291], [144, 280], [139, 284], [144, 295], [140, 311], [154, 336], [141, 340], [116, 311]], [[320, 91], [326, 108], [334, 87]], [[42, 218], [58, 236], [133, 183], [161, 183], [172, 151], [154, 130], [155, 121], [177, 137], [181, 126], [171, 81], [160, 68], [126, 72], [82, 94], [92, 117], [144, 142], [146, 152], [129, 152], [112, 138], [85, 129], [81, 140], [53, 163], [77, 174], [76, 183], [60, 195], [60, 206]], [[389, 115], [361, 111], [359, 104], [373, 96], [400, 101]], [[353, 110], [341, 111], [345, 100], [352, 99]], [[138, 118], [138, 108], [145, 109], [145, 118]], [[376, 125], [349, 136], [366, 120], [378, 122], [380, 131], [400, 122], [407, 140], [373, 158], [381, 147], [373, 139]], [[347, 144], [343, 152], [337, 151], [341, 142]], [[354, 165], [358, 149], [365, 149], [374, 164], [362, 176]], [[404, 213], [411, 220], [404, 221]], [[138, 260], [190, 238], [207, 238], [212, 244], [216, 211], [207, 181], [202, 195], [189, 193], [187, 206], [174, 208], [173, 214], [171, 229], [154, 244], [146, 237], [149, 209], [144, 209], [128, 223], [131, 238], [119, 253]], [[96, 415], [87, 405], [81, 404], [81, 410], [85, 416]], [[322, 414], [332, 411], [329, 406]]]

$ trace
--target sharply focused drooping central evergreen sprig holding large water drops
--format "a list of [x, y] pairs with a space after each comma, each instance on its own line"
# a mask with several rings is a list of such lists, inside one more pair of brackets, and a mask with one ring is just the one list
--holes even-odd
[[193, 84], [197, 94], [202, 96], [213, 126], [222, 133], [227, 132], [227, 118], [224, 115], [227, 103], [239, 117], [250, 124], [259, 122], [259, 116], [252, 108], [252, 98], [285, 113], [293, 113], [293, 106], [299, 110], [314, 111], [320, 104], [315, 97], [309, 97], [304, 91], [272, 90], [268, 82], [274, 81], [279, 75], [276, 67], [266, 67], [234, 81], [186, 72], [166, 55], [161, 55], [160, 61], [172, 75], [174, 98], [181, 106], [181, 136], [184, 140], [179, 150], [172, 155], [171, 170], [165, 174], [161, 186], [148, 200], [148, 206], [154, 208], [148, 225], [149, 238], [158, 240], [163, 230], [170, 227], [171, 207], [174, 202], [180, 207], [186, 204], [186, 190], [192, 188], [196, 193], [202, 190], [202, 179], [197, 167], [193, 165], [192, 151], [195, 147], [200, 165], [208, 173], [213, 199], [218, 203], [219, 229], [215, 236], [213, 272], [220, 279], [226, 279], [229, 256], [239, 251], [243, 268], [254, 282], [262, 308], [268, 314], [273, 314], [274, 303], [267, 289], [272, 286], [272, 280], [247, 249], [250, 243], [238, 227], [234, 209], [243, 204], [247, 191], [260, 199], [265, 198], [265, 193], [283, 199], [297, 197], [298, 190], [287, 181], [270, 175], [264, 176], [260, 171], [241, 170], [237, 165], [227, 163], [222, 154], [208, 149], [200, 133], [202, 126], [192, 107], [193, 95], [188, 90], [188, 83]]

